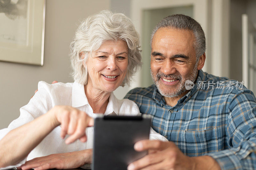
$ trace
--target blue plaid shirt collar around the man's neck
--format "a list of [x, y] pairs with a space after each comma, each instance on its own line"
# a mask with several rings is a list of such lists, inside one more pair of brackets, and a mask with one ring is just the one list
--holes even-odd
[[[192, 96], [193, 94], [195, 94], [195, 92], [198, 90], [198, 89], [197, 89], [197, 84], [198, 84], [198, 82], [202, 82], [202, 81], [205, 81], [205, 80], [206, 80], [206, 74], [204, 73], [204, 71], [199, 70], [199, 71], [198, 71], [198, 76], [197, 76], [197, 79], [196, 79], [196, 84], [195, 84], [195, 86], [194, 86], [191, 90], [189, 90], [187, 94], [185, 94], [184, 96], [182, 96], [182, 97], [178, 100], [177, 104], [179, 104], [179, 103], [181, 103], [181, 102], [186, 102], [187, 100], [189, 100], [189, 99], [191, 98], [191, 96]], [[156, 100], [157, 104], [159, 104], [159, 105], [166, 105], [166, 103], [165, 103], [165, 101], [164, 101], [164, 97], [159, 93], [159, 91], [158, 91], [156, 85], [154, 85], [154, 92], [153, 92], [152, 98], [153, 98], [154, 100]]]

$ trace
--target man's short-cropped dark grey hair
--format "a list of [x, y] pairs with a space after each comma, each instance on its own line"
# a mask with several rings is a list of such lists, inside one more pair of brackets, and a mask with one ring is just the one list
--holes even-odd
[[204, 31], [201, 25], [193, 18], [183, 15], [183, 14], [175, 14], [170, 15], [162, 19], [153, 29], [150, 39], [150, 44], [152, 45], [152, 39], [154, 34], [159, 28], [175, 28], [181, 30], [191, 30], [194, 33], [195, 41], [194, 48], [196, 51], [196, 59], [199, 60], [199, 57], [205, 52], [205, 36]]

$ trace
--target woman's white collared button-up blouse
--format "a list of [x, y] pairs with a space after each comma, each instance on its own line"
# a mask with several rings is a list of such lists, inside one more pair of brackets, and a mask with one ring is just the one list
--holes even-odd
[[[96, 116], [86, 98], [84, 85], [80, 85], [76, 82], [48, 84], [44, 81], [40, 81], [38, 83], [38, 92], [36, 92], [26, 106], [20, 108], [20, 117], [12, 121], [8, 128], [0, 130], [0, 140], [12, 129], [33, 121], [56, 105], [72, 106], [86, 112], [91, 117]], [[118, 100], [112, 92], [104, 115], [110, 114], [135, 116], [140, 114], [140, 110], [132, 100]], [[62, 139], [60, 137], [60, 131], [60, 126], [53, 129], [52, 132], [28, 154], [27, 158], [15, 166], [20, 166], [24, 164], [26, 160], [31, 160], [36, 157], [47, 156], [54, 153], [81, 151], [93, 147], [93, 127], [86, 129], [87, 141], [85, 143], [76, 140], [74, 143], [67, 145], [65, 144], [65, 139], [68, 136]], [[150, 128], [149, 138], [167, 141], [165, 137], [156, 133], [152, 128]], [[1, 169], [8, 169], [15, 166], [8, 166]]]

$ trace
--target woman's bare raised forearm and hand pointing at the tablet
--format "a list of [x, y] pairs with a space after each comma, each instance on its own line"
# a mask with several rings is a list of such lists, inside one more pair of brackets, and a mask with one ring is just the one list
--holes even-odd
[[93, 119], [85, 112], [70, 106], [53, 107], [46, 114], [11, 130], [0, 141], [0, 167], [14, 165], [23, 160], [60, 124], [62, 125], [60, 136], [64, 138], [67, 134], [70, 135], [66, 139], [66, 144], [76, 139], [85, 142], [85, 129], [93, 125]]

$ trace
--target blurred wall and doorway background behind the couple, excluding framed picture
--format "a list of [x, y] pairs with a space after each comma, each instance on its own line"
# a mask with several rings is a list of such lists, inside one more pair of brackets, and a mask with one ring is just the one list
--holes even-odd
[[176, 13], [196, 19], [203, 27], [207, 48], [204, 71], [244, 81], [256, 92], [255, 0], [46, 0], [44, 65], [0, 61], [0, 129], [19, 117], [19, 108], [28, 103], [38, 81], [73, 82], [69, 44], [80, 22], [104, 9], [130, 17], [141, 38], [143, 66], [130, 87], [114, 92], [117, 98], [122, 99], [134, 87], [152, 84], [151, 31], [162, 18]]

